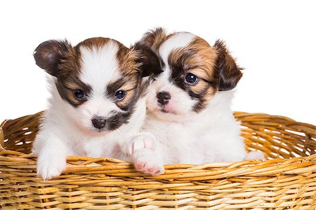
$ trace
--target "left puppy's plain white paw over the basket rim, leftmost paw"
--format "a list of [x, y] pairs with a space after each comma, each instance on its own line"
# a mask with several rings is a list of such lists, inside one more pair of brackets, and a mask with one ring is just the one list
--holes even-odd
[[44, 180], [59, 176], [66, 169], [66, 158], [39, 157], [37, 160], [37, 176]]

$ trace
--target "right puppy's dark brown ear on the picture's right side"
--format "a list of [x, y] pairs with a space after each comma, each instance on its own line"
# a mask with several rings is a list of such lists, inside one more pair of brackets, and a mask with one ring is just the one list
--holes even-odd
[[218, 90], [232, 90], [242, 78], [242, 68], [237, 66], [235, 59], [223, 41], [217, 40], [213, 47], [217, 51], [216, 67], [219, 73]]

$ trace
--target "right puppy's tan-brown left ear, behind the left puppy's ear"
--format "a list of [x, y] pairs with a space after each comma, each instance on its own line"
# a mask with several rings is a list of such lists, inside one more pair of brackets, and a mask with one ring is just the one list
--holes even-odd
[[150, 30], [146, 34], [144, 34], [139, 43], [142, 45], [146, 45], [147, 47], [150, 47], [152, 50], [157, 52], [159, 46], [166, 40], [166, 38], [166, 31], [163, 28], [159, 27]]

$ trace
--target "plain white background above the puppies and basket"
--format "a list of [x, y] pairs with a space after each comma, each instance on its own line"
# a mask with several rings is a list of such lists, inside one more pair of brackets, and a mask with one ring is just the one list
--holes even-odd
[[[314, 1], [315, 2], [315, 1]], [[51, 38], [93, 36], [125, 45], [145, 31], [190, 31], [226, 41], [245, 68], [236, 111], [316, 125], [316, 3], [313, 1], [1, 1], [0, 121], [46, 108], [45, 73], [32, 52]]]

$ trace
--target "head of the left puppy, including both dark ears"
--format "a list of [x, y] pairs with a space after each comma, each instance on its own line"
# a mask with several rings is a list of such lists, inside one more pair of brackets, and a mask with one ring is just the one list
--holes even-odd
[[91, 133], [110, 132], [129, 123], [149, 83], [143, 77], [161, 71], [149, 48], [129, 49], [110, 38], [89, 38], [74, 47], [67, 41], [46, 41], [37, 47], [34, 58], [55, 77], [65, 118]]

